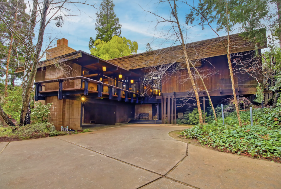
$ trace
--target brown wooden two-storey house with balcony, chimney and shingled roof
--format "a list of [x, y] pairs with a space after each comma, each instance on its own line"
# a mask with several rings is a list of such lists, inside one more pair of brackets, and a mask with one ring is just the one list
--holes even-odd
[[[222, 40], [226, 42], [225, 37]], [[255, 44], [238, 34], [231, 35], [231, 42], [233, 57], [239, 56], [239, 59], [245, 60], [253, 57]], [[257, 46], [259, 52], [266, 47], [266, 43]], [[211, 97], [222, 99], [233, 95], [226, 51], [219, 38], [189, 43], [186, 49], [201, 71], [217, 72], [204, 78]], [[59, 39], [57, 47], [47, 50], [47, 59], [39, 63], [34, 83], [35, 101], [53, 103], [49, 121], [54, 123], [56, 129], [61, 126], [81, 129], [83, 124], [91, 123], [137, 123], [133, 120], [140, 118], [154, 120], [147, 123], [161, 123], [156, 119], [162, 120], [162, 123], [174, 123], [180, 112], [176, 99], [193, 95], [187, 69], [181, 66], [173, 73], [166, 74], [162, 78], [165, 82], [157, 88], [144, 85], [144, 80], [151, 67], [184, 65], [184, 62], [181, 46], [106, 61], [76, 51], [68, 47], [66, 39]], [[16, 72], [21, 71], [23, 69], [19, 68]], [[238, 72], [234, 74], [237, 95], [256, 93], [255, 78]], [[179, 82], [183, 79], [186, 79], [184, 83]], [[203, 88], [199, 80], [196, 83]], [[205, 108], [207, 95], [204, 90], [199, 92], [199, 96]]]

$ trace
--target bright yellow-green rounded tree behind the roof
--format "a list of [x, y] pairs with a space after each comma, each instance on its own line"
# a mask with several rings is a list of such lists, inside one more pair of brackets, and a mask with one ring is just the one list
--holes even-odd
[[95, 48], [91, 49], [91, 54], [104, 60], [136, 54], [138, 51], [137, 42], [116, 35], [108, 42], [97, 39], [94, 46]]

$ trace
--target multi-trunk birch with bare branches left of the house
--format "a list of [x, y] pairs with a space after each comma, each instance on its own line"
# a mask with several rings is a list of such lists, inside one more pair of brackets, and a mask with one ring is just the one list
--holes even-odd
[[[21, 40], [26, 49], [24, 75], [22, 82], [23, 105], [20, 114], [19, 126], [30, 124], [30, 94], [37, 72], [38, 62], [45, 54], [45, 50], [42, 50], [42, 44], [44, 41], [44, 34], [47, 25], [53, 23], [57, 27], [62, 27], [64, 19], [70, 16], [74, 16], [72, 14], [73, 11], [70, 10], [71, 5], [77, 7], [76, 5], [83, 4], [95, 8], [94, 4], [88, 4], [87, 1], [71, 0], [29, 0], [27, 4], [29, 6], [30, 16], [28, 19], [28, 31], [25, 33], [21, 33], [17, 30], [14, 30], [13, 26], [9, 23], [9, 20], [5, 16], [0, 15], [0, 19], [8, 26], [9, 30], [13, 33], [13, 35]], [[1, 3], [1, 6], [3, 8], [5, 4]], [[38, 27], [38, 31], [36, 30], [36, 32], [35, 27]], [[50, 44], [53, 40], [54, 39], [49, 40]], [[1, 112], [4, 113], [1, 114], [2, 117], [5, 117], [5, 112], [0, 111], [0, 113]], [[11, 123], [8, 124], [11, 125]]]

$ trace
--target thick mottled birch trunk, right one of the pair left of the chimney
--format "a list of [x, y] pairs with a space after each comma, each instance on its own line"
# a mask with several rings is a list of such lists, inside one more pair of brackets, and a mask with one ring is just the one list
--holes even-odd
[[49, 8], [49, 0], [44, 0], [43, 6], [42, 6], [42, 12], [41, 12], [41, 22], [40, 22], [40, 30], [38, 33], [38, 41], [37, 41], [35, 53], [34, 53], [34, 60], [32, 63], [31, 71], [28, 75], [28, 82], [27, 82], [27, 84], [25, 86], [25, 90], [23, 92], [23, 106], [21, 108], [21, 113], [20, 113], [20, 126], [26, 125], [28, 123], [28, 120], [30, 120], [30, 93], [31, 93], [33, 81], [35, 79], [35, 75], [37, 72], [38, 60], [39, 60], [40, 52], [42, 49], [48, 8]]

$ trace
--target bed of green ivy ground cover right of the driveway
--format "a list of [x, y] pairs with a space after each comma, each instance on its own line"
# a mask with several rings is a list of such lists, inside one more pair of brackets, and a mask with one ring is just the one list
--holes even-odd
[[251, 154], [253, 157], [281, 156], [281, 108], [264, 108], [253, 110], [253, 126], [250, 124], [250, 112], [241, 112], [243, 126], [239, 126], [236, 113], [222, 118], [218, 124], [214, 121], [205, 126], [196, 125], [184, 130], [181, 134], [187, 138], [197, 138], [199, 142], [220, 150], [229, 150], [240, 154]]

